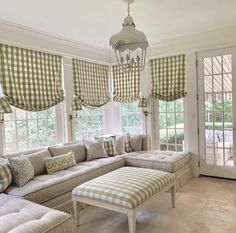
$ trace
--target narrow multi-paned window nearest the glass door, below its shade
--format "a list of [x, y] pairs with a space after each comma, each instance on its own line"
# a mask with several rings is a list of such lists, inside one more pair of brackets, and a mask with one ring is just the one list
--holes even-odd
[[161, 150], [184, 150], [183, 99], [159, 101], [159, 134]]

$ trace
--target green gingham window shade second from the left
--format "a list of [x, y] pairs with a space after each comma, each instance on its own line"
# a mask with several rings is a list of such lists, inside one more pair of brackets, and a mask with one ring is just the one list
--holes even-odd
[[110, 101], [109, 67], [73, 59], [74, 100], [72, 110], [101, 107]]

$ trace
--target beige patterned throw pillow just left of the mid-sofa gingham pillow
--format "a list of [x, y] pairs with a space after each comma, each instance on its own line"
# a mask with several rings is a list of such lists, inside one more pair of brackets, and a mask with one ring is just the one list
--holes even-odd
[[87, 161], [107, 157], [107, 153], [103, 145], [103, 140], [99, 141], [84, 140], [84, 145], [87, 149]]

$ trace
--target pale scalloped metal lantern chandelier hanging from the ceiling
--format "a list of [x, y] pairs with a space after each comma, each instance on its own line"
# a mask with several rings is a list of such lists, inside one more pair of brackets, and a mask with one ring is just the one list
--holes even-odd
[[141, 71], [145, 68], [148, 41], [145, 34], [135, 28], [130, 16], [130, 4], [134, 0], [124, 1], [128, 3], [128, 16], [124, 19], [121, 31], [110, 38], [110, 45], [123, 72]]

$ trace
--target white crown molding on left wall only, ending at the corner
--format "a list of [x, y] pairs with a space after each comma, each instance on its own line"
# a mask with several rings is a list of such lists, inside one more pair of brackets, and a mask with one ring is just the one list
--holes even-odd
[[110, 50], [0, 19], [0, 42], [109, 63]]

